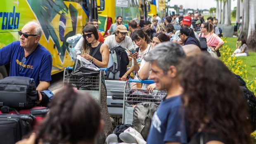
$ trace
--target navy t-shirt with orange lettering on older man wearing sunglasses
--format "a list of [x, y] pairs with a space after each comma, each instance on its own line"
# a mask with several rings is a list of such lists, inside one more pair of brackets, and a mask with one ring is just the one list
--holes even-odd
[[[24, 62], [24, 63], [23, 63]], [[24, 48], [19, 41], [14, 41], [0, 49], [0, 66], [10, 63], [9, 76], [33, 78], [38, 86], [39, 81], [50, 81], [52, 56], [38, 43], [36, 50], [24, 58]]]

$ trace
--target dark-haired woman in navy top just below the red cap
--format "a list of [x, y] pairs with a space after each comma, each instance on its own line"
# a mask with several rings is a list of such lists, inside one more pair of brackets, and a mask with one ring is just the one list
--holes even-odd
[[194, 35], [194, 31], [192, 28], [181, 28], [180, 34], [178, 36], [184, 42], [184, 45], [197, 45], [198, 47], [200, 47], [200, 42]]

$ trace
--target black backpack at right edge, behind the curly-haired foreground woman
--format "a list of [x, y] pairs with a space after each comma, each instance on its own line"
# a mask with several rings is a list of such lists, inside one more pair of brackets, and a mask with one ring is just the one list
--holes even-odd
[[239, 87], [242, 90], [244, 99], [247, 102], [249, 117], [251, 119], [251, 125], [253, 127], [253, 130], [256, 130], [256, 97], [253, 92], [248, 90], [245, 81], [239, 75], [234, 74], [234, 76], [239, 84]]

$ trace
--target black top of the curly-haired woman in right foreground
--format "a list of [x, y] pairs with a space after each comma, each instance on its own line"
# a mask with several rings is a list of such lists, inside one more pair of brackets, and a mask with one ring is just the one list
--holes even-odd
[[219, 141], [225, 144], [225, 141], [220, 138], [220, 135], [217, 133], [205, 133], [197, 132], [193, 135], [192, 139], [188, 144], [206, 144], [210, 141]]

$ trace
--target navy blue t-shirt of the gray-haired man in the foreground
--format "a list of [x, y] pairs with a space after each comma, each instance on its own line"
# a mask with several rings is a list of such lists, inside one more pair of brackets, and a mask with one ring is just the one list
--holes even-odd
[[164, 99], [152, 118], [147, 144], [187, 143], [187, 132], [180, 115], [180, 96]]

